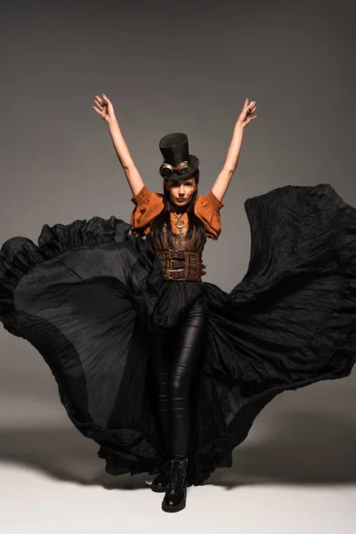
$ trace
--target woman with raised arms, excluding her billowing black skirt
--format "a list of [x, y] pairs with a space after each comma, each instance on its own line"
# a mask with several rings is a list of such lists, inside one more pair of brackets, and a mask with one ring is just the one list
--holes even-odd
[[[162, 261], [165, 279], [173, 279], [175, 282], [196, 281], [199, 284], [201, 276], [205, 274], [201, 263], [204, 237], [206, 235], [217, 239], [221, 231], [219, 210], [238, 164], [243, 129], [257, 117], [251, 115], [256, 110], [255, 101], [248, 104], [246, 99], [235, 125], [223, 171], [209, 195], [198, 198], [199, 162], [196, 156], [189, 153], [187, 136], [168, 134], [159, 142], [164, 158], [160, 168], [160, 174], [164, 178], [164, 195], [151, 194], [130, 157], [111, 101], [105, 94], [102, 97], [95, 95], [93, 109], [109, 125], [117, 157], [134, 194], [132, 200], [136, 209], [131, 219], [134, 235], [146, 235], [150, 239]], [[191, 241], [194, 231], [197, 237]], [[169, 255], [172, 249], [175, 254]], [[190, 277], [187, 278], [189, 268], [193, 269], [192, 259], [196, 262], [196, 272], [190, 272]], [[172, 261], [175, 269], [168, 268]], [[192, 303], [176, 329], [177, 332], [169, 331], [169, 335], [155, 332], [152, 336], [152, 365], [156, 378], [156, 409], [163, 443], [163, 461], [158, 476], [152, 481], [151, 489], [166, 491], [162, 502], [162, 508], [166, 512], [177, 512], [185, 506], [190, 430], [189, 393], [206, 336], [204, 295], [199, 295]]]

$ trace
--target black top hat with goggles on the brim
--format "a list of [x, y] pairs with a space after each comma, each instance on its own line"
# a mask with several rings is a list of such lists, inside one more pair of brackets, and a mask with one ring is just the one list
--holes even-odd
[[[198, 169], [199, 160], [189, 153], [186, 134], [165, 135], [159, 142], [159, 150], [164, 158], [164, 163], [159, 168], [159, 174], [165, 180], [186, 180]], [[187, 164], [183, 162], [187, 162]], [[181, 172], [177, 168], [178, 166], [180, 166]]]

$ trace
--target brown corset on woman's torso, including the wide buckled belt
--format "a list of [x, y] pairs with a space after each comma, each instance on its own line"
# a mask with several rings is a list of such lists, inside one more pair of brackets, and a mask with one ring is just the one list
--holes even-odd
[[168, 241], [166, 225], [163, 231], [150, 231], [146, 235], [158, 255], [166, 280], [201, 281], [206, 274], [206, 266], [202, 263], [206, 235], [202, 239], [200, 233], [193, 229], [190, 238], [187, 238], [187, 231], [187, 228], [183, 228], [173, 234], [173, 248]]

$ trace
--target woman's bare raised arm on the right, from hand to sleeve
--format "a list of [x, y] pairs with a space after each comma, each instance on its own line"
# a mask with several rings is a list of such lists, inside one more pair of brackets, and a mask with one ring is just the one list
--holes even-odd
[[257, 115], [251, 117], [251, 113], [255, 113], [256, 109], [257, 107], [255, 101], [248, 103], [247, 98], [235, 125], [231, 145], [223, 165], [223, 170], [216, 178], [214, 186], [212, 187], [215, 197], [220, 201], [223, 200], [223, 196], [230, 185], [232, 174], [234, 174], [236, 167], [238, 166], [239, 153], [241, 150], [242, 138], [244, 136], [244, 128], [257, 117]]

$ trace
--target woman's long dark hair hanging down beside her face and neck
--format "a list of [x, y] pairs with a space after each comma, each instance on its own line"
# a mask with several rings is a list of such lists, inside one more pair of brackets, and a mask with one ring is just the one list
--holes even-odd
[[[195, 178], [195, 181], [198, 185], [199, 182], [199, 169], [196, 170], [194, 174], [192, 174], [187, 180], [190, 178]], [[196, 227], [196, 229], [202, 233], [202, 235], [205, 234], [205, 227], [202, 221], [197, 217], [197, 215], [194, 213], [194, 204], [198, 197], [198, 188], [194, 191], [194, 194], [192, 198], [190, 198], [190, 203], [186, 206], [186, 212], [188, 214], [188, 221], [189, 221], [189, 227], [187, 231], [187, 238], [190, 237], [191, 232], [193, 231], [193, 228]], [[157, 217], [154, 218], [154, 220], [151, 223], [151, 230], [153, 231], [163, 231], [163, 227], [166, 224], [166, 230], [167, 230], [167, 237], [170, 247], [173, 247], [173, 234], [171, 229], [171, 211], [174, 210], [175, 205], [173, 204], [170, 195], [169, 190], [164, 187], [164, 206], [163, 210], [157, 215]]]

